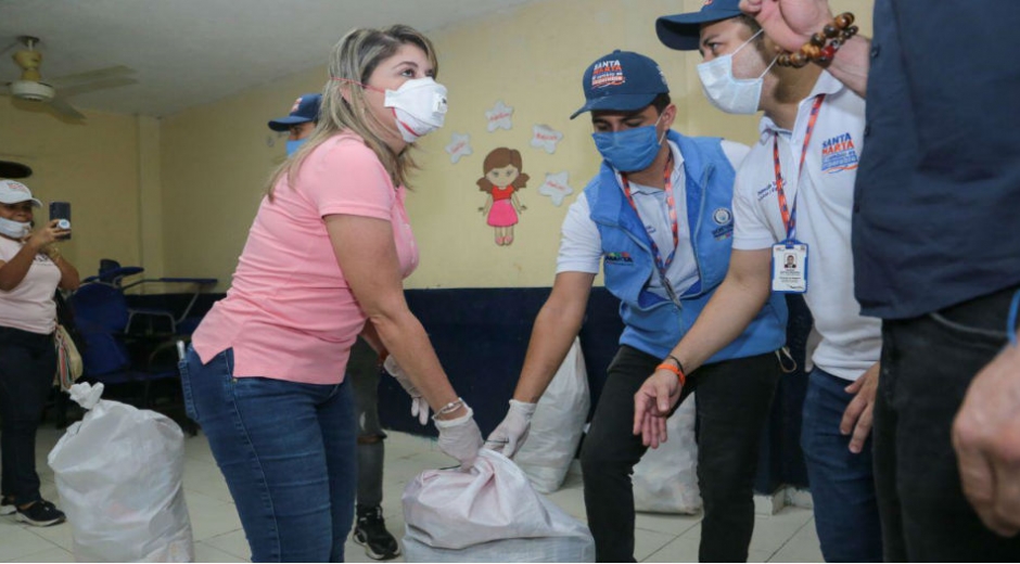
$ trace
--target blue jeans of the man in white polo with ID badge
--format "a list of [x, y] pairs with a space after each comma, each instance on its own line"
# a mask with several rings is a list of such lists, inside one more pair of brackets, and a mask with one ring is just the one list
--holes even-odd
[[859, 454], [840, 420], [854, 398], [850, 382], [820, 369], [808, 375], [801, 448], [826, 562], [882, 562], [882, 528], [872, 472], [871, 437]]

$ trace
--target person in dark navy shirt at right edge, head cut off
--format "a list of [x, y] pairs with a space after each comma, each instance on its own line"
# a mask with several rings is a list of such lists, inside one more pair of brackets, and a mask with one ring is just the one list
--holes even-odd
[[839, 26], [827, 1], [741, 8], [867, 92], [854, 290], [882, 320], [885, 560], [1020, 561], [1020, 2], [876, 0], [874, 42], [828, 61], [804, 47]]

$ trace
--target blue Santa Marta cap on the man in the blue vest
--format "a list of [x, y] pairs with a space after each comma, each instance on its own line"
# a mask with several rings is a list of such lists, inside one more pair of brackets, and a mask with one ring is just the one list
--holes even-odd
[[640, 53], [619, 49], [591, 63], [585, 70], [583, 86], [585, 105], [571, 119], [596, 110], [640, 110], [659, 94], [670, 93], [658, 63]]

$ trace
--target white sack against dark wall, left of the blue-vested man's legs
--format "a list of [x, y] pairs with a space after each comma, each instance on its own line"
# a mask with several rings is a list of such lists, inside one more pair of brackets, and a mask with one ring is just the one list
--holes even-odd
[[577, 452], [589, 407], [585, 357], [581, 339], [574, 337], [566, 358], [538, 400], [527, 439], [513, 457], [538, 491], [560, 489]]

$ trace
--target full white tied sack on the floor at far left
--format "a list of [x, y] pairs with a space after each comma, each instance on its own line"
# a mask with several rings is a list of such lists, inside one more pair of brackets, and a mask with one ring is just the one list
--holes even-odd
[[184, 504], [184, 436], [154, 411], [100, 400], [103, 385], [75, 384], [89, 412], [50, 451], [78, 562], [192, 562]]

